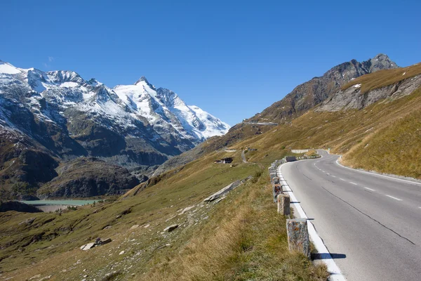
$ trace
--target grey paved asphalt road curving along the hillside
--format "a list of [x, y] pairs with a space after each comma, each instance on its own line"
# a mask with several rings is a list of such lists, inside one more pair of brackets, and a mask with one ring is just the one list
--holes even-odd
[[281, 170], [347, 280], [421, 280], [421, 185], [319, 153]]

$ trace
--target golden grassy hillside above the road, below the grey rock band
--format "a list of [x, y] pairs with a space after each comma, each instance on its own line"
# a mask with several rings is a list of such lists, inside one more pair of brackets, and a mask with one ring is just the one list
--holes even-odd
[[345, 164], [421, 178], [421, 89], [398, 100], [384, 99], [363, 110], [314, 112], [290, 124], [272, 127], [232, 148], [257, 148], [249, 161], [267, 163], [266, 155], [300, 148], [331, 148]]

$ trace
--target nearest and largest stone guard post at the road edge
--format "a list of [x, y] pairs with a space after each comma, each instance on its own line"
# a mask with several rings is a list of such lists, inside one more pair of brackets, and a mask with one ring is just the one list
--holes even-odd
[[288, 246], [290, 251], [299, 251], [308, 258], [310, 257], [309, 231], [307, 219], [294, 218], [286, 220], [286, 233], [288, 234]]

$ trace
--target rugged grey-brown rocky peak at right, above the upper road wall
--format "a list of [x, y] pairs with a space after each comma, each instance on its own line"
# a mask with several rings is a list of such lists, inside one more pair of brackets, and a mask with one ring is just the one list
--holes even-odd
[[332, 96], [341, 86], [361, 75], [378, 70], [389, 70], [398, 66], [385, 54], [359, 63], [351, 60], [337, 65], [322, 77], [314, 77], [288, 93], [285, 98], [267, 107], [261, 113], [246, 120], [248, 122], [285, 122], [298, 117], [304, 112]]

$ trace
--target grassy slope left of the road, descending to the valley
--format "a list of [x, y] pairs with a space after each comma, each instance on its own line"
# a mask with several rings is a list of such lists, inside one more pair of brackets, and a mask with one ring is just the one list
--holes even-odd
[[[286, 221], [276, 214], [267, 169], [262, 163], [244, 164], [240, 153], [230, 154], [232, 164], [214, 164], [227, 155], [210, 153], [124, 200], [61, 215], [0, 214], [0, 277], [326, 280], [326, 268], [289, 253]], [[265, 163], [284, 154], [266, 157]], [[203, 202], [250, 175], [252, 181], [222, 202]], [[173, 232], [163, 231], [174, 223], [179, 227]], [[79, 249], [96, 237], [113, 241], [89, 251]]]

